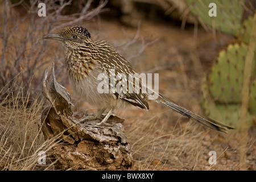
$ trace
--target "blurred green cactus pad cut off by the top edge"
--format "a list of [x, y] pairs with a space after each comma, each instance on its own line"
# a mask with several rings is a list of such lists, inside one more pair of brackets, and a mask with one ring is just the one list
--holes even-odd
[[[241, 26], [244, 0], [185, 0], [185, 3], [201, 24], [232, 35]], [[208, 15], [210, 3], [216, 4], [217, 16]]]

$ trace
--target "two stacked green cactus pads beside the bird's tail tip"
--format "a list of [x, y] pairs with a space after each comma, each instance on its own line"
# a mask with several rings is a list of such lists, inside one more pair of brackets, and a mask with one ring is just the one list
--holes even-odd
[[[219, 53], [218, 59], [202, 85], [204, 113], [208, 117], [236, 127], [238, 125], [245, 58], [248, 46], [244, 43], [230, 44]], [[254, 54], [250, 84], [249, 125], [256, 116], [256, 60]]]

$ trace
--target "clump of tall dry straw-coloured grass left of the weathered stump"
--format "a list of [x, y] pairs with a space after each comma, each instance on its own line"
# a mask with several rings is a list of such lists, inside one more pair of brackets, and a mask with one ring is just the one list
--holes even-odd
[[[0, 95], [3, 93], [2, 89]], [[55, 143], [44, 141], [40, 132], [40, 115], [44, 101], [39, 97], [30, 100], [30, 92], [22, 88], [0, 102], [0, 168], [3, 170], [38, 169], [38, 152], [48, 151]], [[52, 168], [54, 161], [44, 169]]]

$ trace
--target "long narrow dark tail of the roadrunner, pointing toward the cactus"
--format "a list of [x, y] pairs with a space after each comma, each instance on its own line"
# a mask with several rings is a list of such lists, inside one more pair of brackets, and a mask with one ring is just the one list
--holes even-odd
[[171, 109], [174, 109], [178, 113], [185, 115], [186, 117], [192, 119], [193, 121], [199, 122], [202, 125], [208, 126], [211, 129], [217, 130], [217, 131], [222, 131], [224, 133], [227, 133], [227, 130], [233, 129], [233, 127], [229, 127], [226, 125], [223, 125], [217, 121], [214, 121], [213, 119], [203, 117], [201, 115], [198, 115], [196, 113], [193, 113], [191, 110], [180, 106], [174, 101], [168, 100], [166, 97], [158, 94], [158, 98], [155, 100], [156, 102], [159, 102], [163, 105], [166, 105], [168, 107], [171, 107]]

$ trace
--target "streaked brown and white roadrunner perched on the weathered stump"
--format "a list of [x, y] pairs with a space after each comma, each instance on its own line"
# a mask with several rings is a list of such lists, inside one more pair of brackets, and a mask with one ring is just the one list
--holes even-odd
[[141, 80], [139, 80], [139, 92], [127, 92], [127, 90], [134, 89], [135, 91], [136, 89], [134, 83], [127, 80], [128, 88], [123, 89], [122, 92], [99, 93], [97, 88], [101, 80], [98, 80], [98, 75], [104, 73], [110, 77], [113, 74], [110, 70], [114, 70], [115, 75], [122, 73], [128, 77], [129, 74], [136, 72], [129, 61], [119, 55], [111, 44], [103, 40], [94, 42], [90, 38], [89, 31], [82, 26], [65, 27], [58, 34], [44, 35], [44, 39], [57, 40], [64, 48], [65, 64], [73, 90], [89, 103], [100, 106], [102, 109], [98, 114], [101, 115], [106, 109], [110, 109], [98, 125], [104, 124], [114, 109], [125, 108], [127, 104], [148, 110], [148, 97], [157, 94], [155, 102], [171, 107], [193, 121], [225, 133], [228, 129], [233, 129], [213, 119], [193, 113], [159, 93], [142, 92]]

